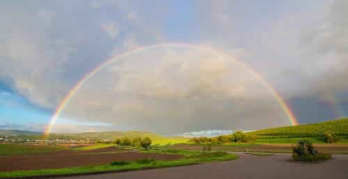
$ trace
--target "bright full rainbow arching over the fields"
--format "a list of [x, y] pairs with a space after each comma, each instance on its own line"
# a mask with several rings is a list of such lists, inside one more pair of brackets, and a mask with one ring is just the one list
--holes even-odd
[[102, 62], [102, 64], [100, 64], [99, 66], [95, 67], [90, 72], [88, 72], [88, 74], [86, 74], [86, 76], [81, 78], [81, 80], [79, 80], [79, 82], [77, 82], [76, 85], [74, 85], [74, 87], [70, 90], [70, 92], [68, 92], [68, 94], [66, 94], [64, 99], [58, 105], [58, 108], [56, 108], [54, 114], [52, 115], [52, 117], [47, 125], [47, 128], [45, 130], [45, 135], [48, 135], [49, 133], [51, 133], [51, 130], [54, 127], [54, 123], [56, 123], [56, 120], [58, 119], [59, 114], [61, 114], [61, 112], [63, 111], [65, 105], [69, 102], [69, 100], [72, 98], [72, 96], [74, 96], [74, 94], [77, 92], [77, 90], [79, 90], [79, 88], [88, 81], [88, 79], [95, 76], [95, 74], [97, 74], [100, 70], [104, 69], [105, 67], [107, 67], [111, 63], [115, 62], [116, 60], [120, 60], [121, 58], [125, 58], [126, 56], [129, 56], [129, 55], [132, 55], [135, 53], [140, 53], [142, 51], [148, 51], [148, 50], [152, 50], [152, 49], [161, 49], [161, 48], [196, 49], [196, 50], [200, 50], [200, 51], [207, 51], [209, 53], [217, 54], [219, 56], [223, 56], [223, 57], [226, 57], [226, 58], [233, 60], [233, 62], [235, 62], [236, 65], [238, 65], [239, 67], [242, 67], [243, 69], [248, 71], [255, 78], [257, 78], [260, 81], [260, 83], [262, 83], [262, 85], [264, 85], [264, 87], [267, 88], [267, 90], [274, 96], [276, 101], [278, 101], [280, 107], [285, 112], [287, 119], [289, 120], [289, 122], [293, 126], [298, 124], [296, 121], [296, 117], [294, 117], [294, 114], [292, 114], [292, 111], [287, 106], [287, 104], [285, 103], [283, 98], [276, 92], [276, 90], [274, 90], [273, 87], [271, 87], [271, 85], [269, 85], [269, 83], [267, 83], [267, 81], [264, 80], [264, 78], [262, 78], [262, 76], [260, 76], [260, 74], [258, 74], [256, 71], [254, 71], [250, 67], [246, 66], [244, 63], [239, 62], [238, 60], [235, 60], [235, 58], [232, 58], [231, 56], [228, 56], [227, 54], [222, 53], [220, 51], [217, 51], [216, 49], [213, 49], [212, 47], [209, 47], [209, 46], [200, 46], [200, 45], [193, 45], [193, 44], [177, 44], [177, 43], [168, 44], [167, 43], [167, 44], [155, 44], [155, 45], [150, 45], [150, 46], [140, 46], [140, 47], [137, 47], [136, 49], [131, 49], [129, 51], [125, 51], [124, 53], [121, 53], [117, 56], [113, 56], [113, 57], [109, 58], [108, 60]]

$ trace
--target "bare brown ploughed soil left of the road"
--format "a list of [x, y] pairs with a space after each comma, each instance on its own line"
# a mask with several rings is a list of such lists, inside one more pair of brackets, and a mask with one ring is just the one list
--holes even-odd
[[114, 146], [89, 151], [58, 151], [45, 154], [0, 156], [0, 172], [64, 167], [97, 166], [114, 160], [134, 161], [151, 157], [154, 160], [176, 160], [182, 155], [121, 151]]

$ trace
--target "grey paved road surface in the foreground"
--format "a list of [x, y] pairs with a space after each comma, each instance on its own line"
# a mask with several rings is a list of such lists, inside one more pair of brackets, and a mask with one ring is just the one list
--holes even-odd
[[333, 155], [333, 160], [315, 164], [290, 162], [289, 154], [237, 155], [239, 159], [226, 162], [71, 178], [348, 178], [348, 155]]

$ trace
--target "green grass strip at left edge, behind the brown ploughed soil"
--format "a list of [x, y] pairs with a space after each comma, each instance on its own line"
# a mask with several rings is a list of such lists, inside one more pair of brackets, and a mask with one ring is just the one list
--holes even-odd
[[23, 155], [33, 153], [48, 153], [65, 151], [69, 148], [64, 146], [44, 146], [31, 144], [0, 144], [0, 155]]

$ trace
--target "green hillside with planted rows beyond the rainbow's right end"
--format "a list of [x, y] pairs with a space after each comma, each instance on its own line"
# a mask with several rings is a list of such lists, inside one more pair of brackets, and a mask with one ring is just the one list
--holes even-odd
[[268, 128], [255, 130], [248, 134], [277, 136], [277, 135], [324, 135], [325, 133], [348, 134], [348, 118], [326, 121], [320, 123], [310, 123], [298, 126], [287, 126], [280, 128]]

